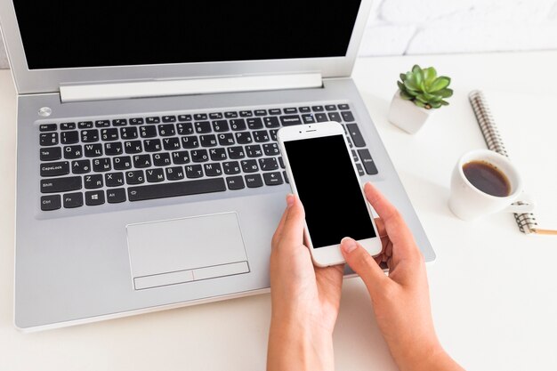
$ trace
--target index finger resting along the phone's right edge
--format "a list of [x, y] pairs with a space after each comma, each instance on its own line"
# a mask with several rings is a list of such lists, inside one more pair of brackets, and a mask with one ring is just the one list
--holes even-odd
[[381, 218], [384, 230], [395, 245], [401, 248], [416, 247], [412, 233], [408, 229], [406, 222], [402, 219], [396, 207], [383, 196], [370, 182], [364, 187], [367, 201], [373, 206]]

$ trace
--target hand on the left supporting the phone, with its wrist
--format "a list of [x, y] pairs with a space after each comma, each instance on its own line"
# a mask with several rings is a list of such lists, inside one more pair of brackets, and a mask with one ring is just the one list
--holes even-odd
[[303, 245], [303, 206], [287, 196], [270, 252], [271, 321], [268, 370], [335, 367], [333, 329], [341, 299], [343, 265], [314, 267]]

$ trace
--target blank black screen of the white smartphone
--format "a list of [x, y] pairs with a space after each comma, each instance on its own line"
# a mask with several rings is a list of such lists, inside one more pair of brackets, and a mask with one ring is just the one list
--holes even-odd
[[285, 141], [296, 190], [314, 248], [344, 237], [374, 238], [375, 230], [342, 134]]

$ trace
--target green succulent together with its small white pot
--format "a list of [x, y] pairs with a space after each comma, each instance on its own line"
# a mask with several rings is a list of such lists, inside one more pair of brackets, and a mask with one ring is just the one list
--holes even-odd
[[453, 95], [448, 88], [450, 78], [438, 77], [432, 67], [422, 69], [416, 64], [411, 71], [400, 74], [400, 80], [387, 118], [400, 129], [416, 133], [435, 109], [448, 105], [445, 99]]

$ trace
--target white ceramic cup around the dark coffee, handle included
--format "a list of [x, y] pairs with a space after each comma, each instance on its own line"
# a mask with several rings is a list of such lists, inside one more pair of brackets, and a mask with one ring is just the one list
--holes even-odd
[[[463, 166], [471, 161], [487, 162], [504, 173], [511, 186], [509, 195], [492, 196], [474, 187], [463, 170]], [[476, 149], [465, 153], [456, 163], [451, 178], [448, 207], [460, 219], [471, 221], [497, 212], [529, 213], [534, 209], [534, 202], [529, 195], [523, 193], [521, 176], [507, 157], [489, 149]]]

